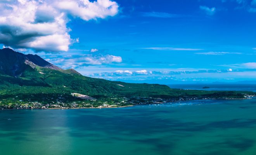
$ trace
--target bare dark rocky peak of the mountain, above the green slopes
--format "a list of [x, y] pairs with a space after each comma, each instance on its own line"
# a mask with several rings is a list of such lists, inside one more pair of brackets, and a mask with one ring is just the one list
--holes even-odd
[[29, 65], [31, 68], [43, 67], [54, 70], [62, 70], [61, 68], [45, 61], [38, 55], [24, 55], [15, 52], [10, 48], [0, 50], [0, 72], [10, 76], [21, 76]]

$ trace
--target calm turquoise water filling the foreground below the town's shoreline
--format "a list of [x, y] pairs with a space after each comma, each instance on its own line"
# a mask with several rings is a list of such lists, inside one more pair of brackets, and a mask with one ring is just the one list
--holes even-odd
[[256, 99], [0, 111], [0, 155], [255, 154]]

